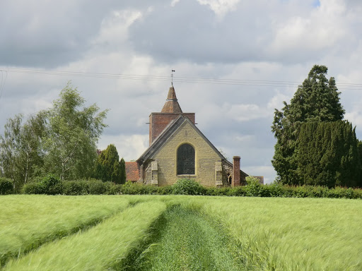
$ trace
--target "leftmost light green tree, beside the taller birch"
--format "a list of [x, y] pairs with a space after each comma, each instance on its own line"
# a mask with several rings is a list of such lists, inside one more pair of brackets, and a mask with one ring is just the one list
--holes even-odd
[[40, 112], [23, 123], [23, 115], [18, 114], [8, 119], [4, 128], [4, 136], [0, 135], [0, 168], [4, 176], [13, 180], [18, 192], [24, 183], [40, 174], [45, 116]]

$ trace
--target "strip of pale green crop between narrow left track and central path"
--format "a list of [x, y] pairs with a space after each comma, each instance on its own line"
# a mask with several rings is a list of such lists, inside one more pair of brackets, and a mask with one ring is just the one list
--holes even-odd
[[85, 232], [47, 243], [4, 270], [110, 270], [144, 239], [151, 223], [165, 210], [158, 200], [139, 203]]

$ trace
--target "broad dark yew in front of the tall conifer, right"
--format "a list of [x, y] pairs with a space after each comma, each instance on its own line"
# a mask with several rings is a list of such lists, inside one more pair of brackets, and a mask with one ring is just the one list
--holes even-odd
[[361, 161], [349, 122], [303, 123], [296, 140], [299, 185], [361, 187]]

